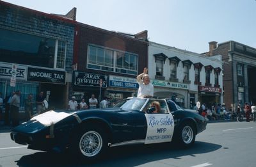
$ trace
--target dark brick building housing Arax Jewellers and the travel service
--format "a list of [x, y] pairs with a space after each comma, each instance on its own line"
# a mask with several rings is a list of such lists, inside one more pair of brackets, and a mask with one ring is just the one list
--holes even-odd
[[147, 31], [127, 35], [79, 22], [75, 31], [76, 68], [70, 95], [86, 103], [92, 94], [98, 101], [108, 97], [113, 103], [134, 96], [136, 76], [147, 67]]

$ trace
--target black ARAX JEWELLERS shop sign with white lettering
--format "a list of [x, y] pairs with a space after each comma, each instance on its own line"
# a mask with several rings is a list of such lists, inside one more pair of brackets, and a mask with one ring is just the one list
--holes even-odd
[[74, 72], [74, 85], [77, 86], [94, 86], [100, 87], [100, 79], [102, 79], [102, 88], [107, 88], [108, 76], [100, 74], [91, 74], [87, 72]]

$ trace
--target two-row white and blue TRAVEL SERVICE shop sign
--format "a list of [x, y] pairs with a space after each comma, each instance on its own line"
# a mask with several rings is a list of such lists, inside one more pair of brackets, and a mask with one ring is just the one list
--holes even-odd
[[118, 88], [139, 88], [139, 84], [135, 78], [120, 76], [109, 76], [109, 86]]

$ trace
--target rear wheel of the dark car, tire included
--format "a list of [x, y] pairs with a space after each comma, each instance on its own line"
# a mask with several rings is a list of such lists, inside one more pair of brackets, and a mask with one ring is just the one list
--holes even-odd
[[195, 127], [190, 122], [184, 122], [180, 125], [179, 143], [182, 147], [188, 148], [195, 143]]

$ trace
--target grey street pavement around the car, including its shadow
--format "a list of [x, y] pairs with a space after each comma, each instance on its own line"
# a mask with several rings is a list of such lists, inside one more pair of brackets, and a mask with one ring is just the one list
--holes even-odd
[[110, 148], [106, 157], [83, 164], [68, 154], [29, 150], [10, 139], [10, 129], [0, 130], [0, 166], [255, 166], [256, 122], [211, 122], [189, 149], [170, 143]]

